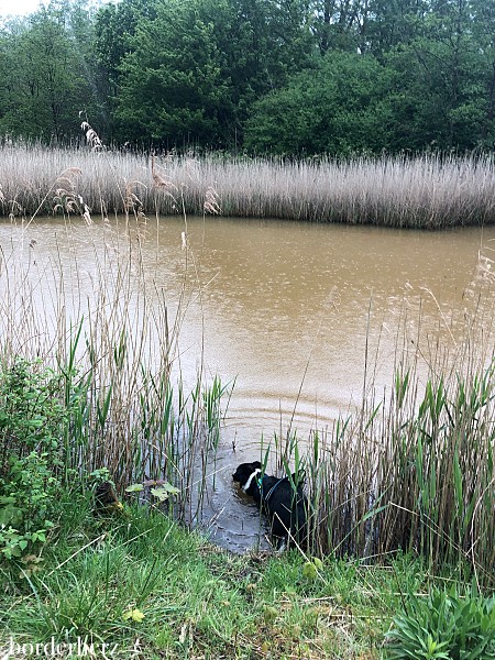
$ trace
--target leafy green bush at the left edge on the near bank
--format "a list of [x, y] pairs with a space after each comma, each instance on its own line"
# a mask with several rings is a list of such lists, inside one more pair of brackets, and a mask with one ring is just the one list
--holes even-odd
[[0, 558], [32, 551], [53, 527], [68, 420], [61, 393], [37, 362], [18, 359], [0, 374]]

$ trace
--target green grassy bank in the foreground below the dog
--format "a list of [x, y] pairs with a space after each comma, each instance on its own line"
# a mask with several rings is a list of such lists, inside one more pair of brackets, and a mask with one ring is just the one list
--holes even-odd
[[[425, 587], [416, 561], [364, 568], [328, 559], [311, 580], [296, 551], [234, 557], [161, 513], [96, 519], [86, 499], [61, 502], [43, 569], [10, 585], [0, 608], [10, 644], [117, 644], [129, 658], [360, 658], [380, 656], [400, 588]], [[124, 619], [129, 610], [141, 622]], [[140, 652], [132, 656], [132, 650]]]

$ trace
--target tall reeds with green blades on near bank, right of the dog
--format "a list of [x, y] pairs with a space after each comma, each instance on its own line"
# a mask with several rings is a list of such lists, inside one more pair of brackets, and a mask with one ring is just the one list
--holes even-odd
[[315, 430], [307, 449], [292, 431], [275, 438], [280, 471], [307, 474], [312, 551], [373, 562], [400, 549], [431, 571], [471, 564], [493, 586], [493, 314], [485, 292], [462, 310], [462, 338], [446, 340], [421, 334], [420, 310], [417, 323], [405, 312], [387, 391], [375, 391], [369, 354], [355, 413]]

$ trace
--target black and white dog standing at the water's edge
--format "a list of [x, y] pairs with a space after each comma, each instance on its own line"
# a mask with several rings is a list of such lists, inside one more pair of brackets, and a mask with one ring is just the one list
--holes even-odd
[[[296, 540], [301, 544], [307, 537], [308, 501], [301, 484], [293, 486], [288, 476], [277, 479], [263, 474], [260, 461], [242, 463], [232, 474], [246, 495], [254, 497], [270, 520], [275, 544]], [[296, 485], [296, 475], [293, 483]]]

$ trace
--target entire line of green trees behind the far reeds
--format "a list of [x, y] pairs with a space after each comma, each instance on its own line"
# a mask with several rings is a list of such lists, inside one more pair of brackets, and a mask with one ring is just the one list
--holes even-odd
[[0, 80], [11, 139], [81, 116], [145, 148], [485, 150], [495, 0], [53, 0], [4, 21]]

